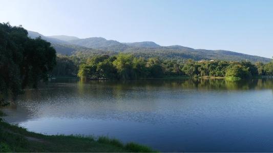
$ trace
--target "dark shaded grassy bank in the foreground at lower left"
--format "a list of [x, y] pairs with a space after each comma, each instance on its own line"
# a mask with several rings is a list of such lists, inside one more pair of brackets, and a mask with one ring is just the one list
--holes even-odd
[[[1, 111], [0, 111], [1, 112]], [[157, 152], [108, 137], [43, 135], [0, 121], [0, 152]]]

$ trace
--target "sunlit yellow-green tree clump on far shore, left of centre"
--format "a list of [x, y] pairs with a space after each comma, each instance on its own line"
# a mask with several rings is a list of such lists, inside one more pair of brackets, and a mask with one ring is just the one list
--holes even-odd
[[114, 57], [94, 56], [79, 66], [78, 77], [90, 79], [162, 78], [163, 67], [157, 58], [136, 58], [130, 54]]

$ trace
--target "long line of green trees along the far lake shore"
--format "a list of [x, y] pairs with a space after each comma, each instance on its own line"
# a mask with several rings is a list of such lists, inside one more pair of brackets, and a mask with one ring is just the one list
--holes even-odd
[[[61, 59], [62, 62], [59, 63], [58, 61], [61, 61]], [[64, 73], [69, 72], [74, 75], [77, 73], [78, 77], [86, 79], [133, 80], [188, 76], [225, 77], [239, 80], [261, 75], [273, 75], [273, 62], [253, 64], [247, 61], [162, 60], [159, 58], [136, 57], [132, 54], [124, 53], [114, 56], [93, 55], [85, 58], [82, 56], [69, 57], [59, 55], [57, 56], [56, 67], [66, 67], [60, 68], [60, 70], [69, 69], [64, 71]]]

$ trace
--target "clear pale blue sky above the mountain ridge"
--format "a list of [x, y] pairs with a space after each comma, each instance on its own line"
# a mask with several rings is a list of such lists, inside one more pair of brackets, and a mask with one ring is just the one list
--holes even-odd
[[273, 56], [271, 0], [0, 0], [0, 22], [45, 36], [154, 41]]

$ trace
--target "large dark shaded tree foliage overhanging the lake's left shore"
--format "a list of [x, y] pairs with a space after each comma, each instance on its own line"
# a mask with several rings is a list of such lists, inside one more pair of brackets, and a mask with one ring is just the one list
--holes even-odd
[[22, 27], [0, 23], [0, 94], [17, 95], [26, 86], [37, 87], [40, 80], [47, 80], [55, 62], [49, 42], [29, 38]]

